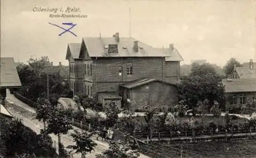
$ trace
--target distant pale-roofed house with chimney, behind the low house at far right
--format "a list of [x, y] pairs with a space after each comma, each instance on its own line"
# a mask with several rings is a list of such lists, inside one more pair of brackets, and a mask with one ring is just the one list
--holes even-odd
[[237, 66], [235, 64], [229, 78], [233, 78], [233, 79], [254, 78], [254, 79], [256, 79], [256, 69], [254, 69], [252, 59], [250, 59], [249, 64], [244, 64], [243, 66]]

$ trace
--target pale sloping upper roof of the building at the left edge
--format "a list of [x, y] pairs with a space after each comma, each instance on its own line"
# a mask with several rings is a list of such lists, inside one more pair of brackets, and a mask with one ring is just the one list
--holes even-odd
[[0, 86], [1, 87], [21, 87], [16, 64], [13, 58], [0, 58]]

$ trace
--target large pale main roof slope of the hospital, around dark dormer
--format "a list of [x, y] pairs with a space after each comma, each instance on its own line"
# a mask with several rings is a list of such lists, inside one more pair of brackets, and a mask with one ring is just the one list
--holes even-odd
[[[83, 37], [90, 57], [166, 57], [169, 56], [147, 44], [138, 41], [139, 51], [133, 51], [135, 38], [120, 37], [119, 42], [114, 37]], [[108, 53], [109, 44], [118, 44], [118, 53]], [[125, 48], [124, 48], [125, 47]]]

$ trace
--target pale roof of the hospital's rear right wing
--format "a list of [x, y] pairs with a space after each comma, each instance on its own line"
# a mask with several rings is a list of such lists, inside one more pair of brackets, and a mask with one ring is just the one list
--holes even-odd
[[156, 50], [166, 55], [169, 55], [168, 57], [165, 57], [165, 61], [184, 61], [176, 48], [174, 48], [173, 50], [169, 48], [158, 48]]

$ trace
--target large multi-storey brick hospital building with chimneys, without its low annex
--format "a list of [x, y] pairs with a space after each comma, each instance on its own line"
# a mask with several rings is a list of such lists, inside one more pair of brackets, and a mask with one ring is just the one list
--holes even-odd
[[[122, 85], [143, 78], [172, 83], [180, 78], [182, 57], [173, 44], [157, 49], [134, 38], [84, 37], [69, 43], [66, 59], [74, 94], [87, 94], [101, 103], [121, 106]], [[147, 92], [148, 93], [148, 92]], [[143, 94], [138, 94], [143, 95]]]

